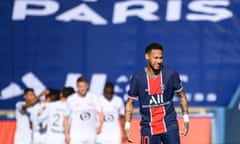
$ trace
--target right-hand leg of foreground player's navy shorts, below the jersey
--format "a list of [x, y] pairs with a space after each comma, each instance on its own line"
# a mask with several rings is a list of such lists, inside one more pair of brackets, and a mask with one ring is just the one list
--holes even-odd
[[180, 144], [180, 136], [178, 129], [168, 131], [165, 134], [162, 134], [163, 144]]

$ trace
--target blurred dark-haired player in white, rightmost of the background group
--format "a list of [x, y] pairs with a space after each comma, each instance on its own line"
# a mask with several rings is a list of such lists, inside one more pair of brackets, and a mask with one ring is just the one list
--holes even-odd
[[[104, 96], [100, 98], [102, 111], [105, 117], [102, 132], [97, 137], [97, 144], [121, 144], [124, 125], [124, 104], [120, 97], [114, 95], [114, 85], [105, 84]], [[119, 120], [121, 124], [119, 125]]]

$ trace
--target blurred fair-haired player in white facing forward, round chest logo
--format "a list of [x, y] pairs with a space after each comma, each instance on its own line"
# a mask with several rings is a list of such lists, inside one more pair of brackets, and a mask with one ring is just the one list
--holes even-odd
[[65, 117], [64, 128], [70, 144], [96, 144], [96, 136], [102, 129], [104, 116], [99, 100], [88, 92], [88, 86], [85, 77], [78, 78], [78, 92], [67, 99], [70, 113]]

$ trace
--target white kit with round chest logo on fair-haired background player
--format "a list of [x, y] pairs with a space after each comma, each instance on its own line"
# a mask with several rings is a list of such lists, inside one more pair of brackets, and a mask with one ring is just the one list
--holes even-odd
[[68, 97], [70, 109], [70, 144], [95, 144], [98, 125], [97, 96], [87, 93], [85, 97], [75, 93]]

